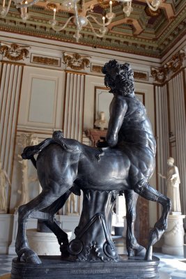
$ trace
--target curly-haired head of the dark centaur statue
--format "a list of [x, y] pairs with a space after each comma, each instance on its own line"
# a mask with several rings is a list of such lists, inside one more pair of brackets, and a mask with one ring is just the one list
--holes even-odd
[[110, 87], [110, 93], [122, 96], [134, 97], [134, 73], [129, 63], [118, 63], [110, 60], [102, 68], [104, 84]]

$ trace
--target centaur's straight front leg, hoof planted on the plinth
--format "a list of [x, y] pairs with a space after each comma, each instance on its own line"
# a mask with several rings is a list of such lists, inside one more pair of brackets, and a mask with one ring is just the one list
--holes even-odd
[[125, 190], [125, 203], [126, 203], [126, 219], [127, 219], [127, 232], [126, 232], [126, 246], [128, 256], [134, 255], [144, 257], [146, 248], [137, 243], [134, 236], [134, 223], [136, 220], [137, 199], [139, 195], [134, 190]]

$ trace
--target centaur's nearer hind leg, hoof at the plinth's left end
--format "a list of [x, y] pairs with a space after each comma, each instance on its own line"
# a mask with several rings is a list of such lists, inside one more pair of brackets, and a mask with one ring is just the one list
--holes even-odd
[[26, 238], [27, 219], [33, 211], [45, 209], [47, 206], [55, 202], [55, 200], [63, 195], [68, 188], [70, 187], [61, 187], [61, 190], [58, 191], [58, 196], [56, 196], [54, 190], [47, 188], [47, 190], [42, 190], [40, 195], [38, 195], [35, 199], [32, 199], [31, 202], [19, 207], [17, 238], [15, 242], [15, 251], [17, 252], [18, 258], [24, 254], [24, 259], [27, 263], [41, 263], [39, 257], [36, 255], [36, 252], [29, 248], [29, 243]]

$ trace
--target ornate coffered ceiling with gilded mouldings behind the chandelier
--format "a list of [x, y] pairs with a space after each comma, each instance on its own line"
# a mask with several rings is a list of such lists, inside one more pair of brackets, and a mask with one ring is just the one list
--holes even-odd
[[[59, 26], [62, 26], [72, 15], [61, 6], [62, 2], [63, 0], [41, 0], [29, 8], [29, 19], [26, 22], [22, 21], [20, 10], [17, 10], [12, 3], [6, 18], [0, 18], [0, 31], [76, 43], [73, 38], [76, 30], [74, 22], [70, 22], [60, 32], [54, 31], [49, 24], [49, 20], [53, 18], [53, 11], [49, 9], [51, 3], [56, 3], [56, 20]], [[109, 9], [109, 1], [86, 0], [85, 4], [86, 6], [94, 5], [93, 14], [100, 18], [100, 21], [102, 15]], [[157, 12], [149, 10], [145, 0], [133, 0], [132, 7], [134, 10], [130, 17], [125, 17], [122, 4], [114, 2], [113, 12], [116, 13], [116, 17], [109, 25], [109, 32], [106, 36], [95, 37], [91, 27], [87, 25], [82, 29], [79, 44], [162, 57], [185, 35], [185, 0], [164, 0]], [[93, 24], [95, 30], [98, 31], [99, 27], [97, 28], [96, 25]]]

